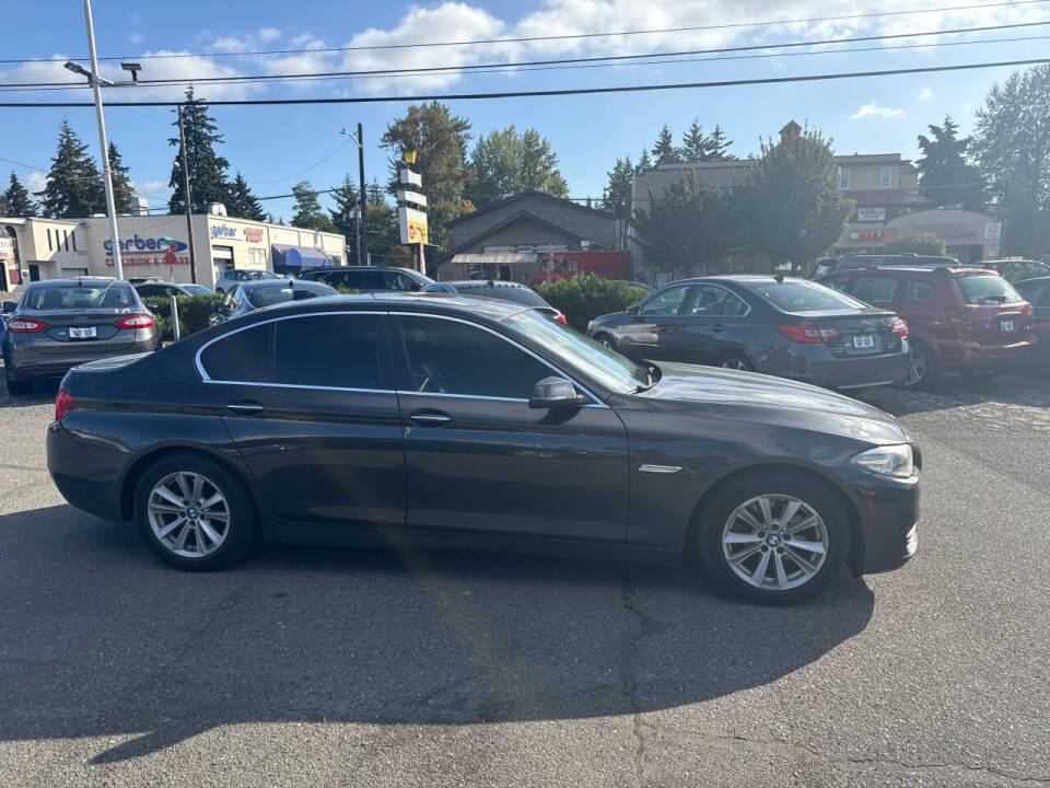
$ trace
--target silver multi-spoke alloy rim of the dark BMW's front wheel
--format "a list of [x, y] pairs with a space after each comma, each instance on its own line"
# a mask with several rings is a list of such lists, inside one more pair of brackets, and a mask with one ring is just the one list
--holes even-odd
[[744, 582], [763, 591], [788, 591], [820, 571], [828, 555], [828, 529], [801, 498], [756, 496], [725, 521], [722, 552]]

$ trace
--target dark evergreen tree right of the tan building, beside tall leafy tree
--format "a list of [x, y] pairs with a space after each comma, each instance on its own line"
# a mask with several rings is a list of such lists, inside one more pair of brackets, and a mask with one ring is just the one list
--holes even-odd
[[965, 210], [984, 209], [984, 188], [980, 171], [966, 162], [969, 139], [959, 139], [958, 125], [944, 116], [943, 126], [929, 126], [930, 135], [919, 135], [922, 157], [919, 167], [919, 194], [935, 206], [959, 206]]

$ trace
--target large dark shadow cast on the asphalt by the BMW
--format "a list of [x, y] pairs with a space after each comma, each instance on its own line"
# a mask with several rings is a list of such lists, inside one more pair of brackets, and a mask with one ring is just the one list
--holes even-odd
[[485, 553], [264, 547], [190, 573], [131, 528], [65, 506], [0, 517], [0, 740], [102, 737], [93, 763], [223, 725], [471, 725], [708, 700], [817, 660], [874, 606], [845, 575], [770, 609], [676, 569]]

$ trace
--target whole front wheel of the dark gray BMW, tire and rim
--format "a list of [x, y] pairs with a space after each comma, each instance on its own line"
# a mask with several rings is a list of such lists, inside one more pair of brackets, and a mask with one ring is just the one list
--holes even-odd
[[705, 509], [698, 537], [712, 577], [771, 605], [824, 590], [850, 551], [842, 506], [820, 482], [790, 473], [731, 482]]

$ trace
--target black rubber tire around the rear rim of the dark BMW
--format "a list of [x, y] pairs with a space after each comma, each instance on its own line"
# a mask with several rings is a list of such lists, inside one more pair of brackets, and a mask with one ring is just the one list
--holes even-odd
[[[207, 477], [211, 486], [225, 499], [229, 524], [224, 538], [207, 555], [196, 557], [178, 555], [153, 532], [148, 512], [150, 496], [159, 482], [175, 473]], [[191, 571], [221, 569], [233, 564], [252, 546], [258, 529], [255, 502], [236, 474], [215, 460], [191, 452], [162, 456], [147, 468], [135, 489], [135, 519], [142, 537], [161, 559], [179, 569]], [[212, 524], [214, 524], [213, 521]], [[197, 538], [200, 536], [198, 535]]]

